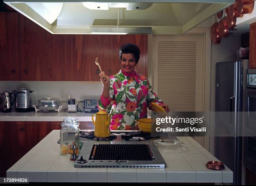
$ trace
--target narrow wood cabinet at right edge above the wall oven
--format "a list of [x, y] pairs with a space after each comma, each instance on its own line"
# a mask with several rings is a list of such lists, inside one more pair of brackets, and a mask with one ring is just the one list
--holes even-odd
[[256, 68], [256, 22], [250, 25], [249, 68]]

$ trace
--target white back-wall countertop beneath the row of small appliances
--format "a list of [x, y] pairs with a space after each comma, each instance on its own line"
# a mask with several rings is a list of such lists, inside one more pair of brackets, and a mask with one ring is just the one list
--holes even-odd
[[92, 114], [85, 112], [0, 112], [2, 122], [62, 122], [65, 117], [75, 117], [79, 122], [92, 122]]

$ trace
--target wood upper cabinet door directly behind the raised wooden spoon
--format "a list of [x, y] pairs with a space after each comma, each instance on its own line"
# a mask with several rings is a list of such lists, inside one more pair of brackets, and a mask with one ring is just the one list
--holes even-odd
[[64, 81], [99, 81], [99, 69], [95, 58], [99, 58], [104, 69], [103, 35], [64, 35]]

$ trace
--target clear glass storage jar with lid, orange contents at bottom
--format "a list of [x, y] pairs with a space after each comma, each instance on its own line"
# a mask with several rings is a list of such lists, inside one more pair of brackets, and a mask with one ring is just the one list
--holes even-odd
[[79, 151], [79, 123], [76, 118], [67, 117], [61, 122], [60, 130], [60, 154], [61, 155], [70, 155], [69, 149], [72, 143], [74, 142], [78, 147]]

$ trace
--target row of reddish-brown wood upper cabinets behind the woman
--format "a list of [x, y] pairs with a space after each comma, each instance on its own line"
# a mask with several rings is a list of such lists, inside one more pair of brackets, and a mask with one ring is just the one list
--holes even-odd
[[116, 74], [118, 50], [128, 42], [140, 47], [136, 70], [147, 75], [147, 35], [51, 34], [18, 12], [1, 12], [0, 26], [0, 80], [100, 81], [95, 57]]

